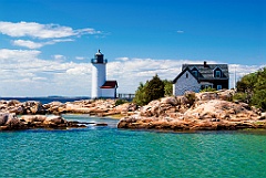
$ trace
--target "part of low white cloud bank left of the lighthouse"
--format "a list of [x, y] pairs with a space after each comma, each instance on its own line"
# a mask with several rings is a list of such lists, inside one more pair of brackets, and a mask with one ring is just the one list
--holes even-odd
[[90, 95], [90, 63], [42, 60], [39, 54], [0, 49], [1, 96]]

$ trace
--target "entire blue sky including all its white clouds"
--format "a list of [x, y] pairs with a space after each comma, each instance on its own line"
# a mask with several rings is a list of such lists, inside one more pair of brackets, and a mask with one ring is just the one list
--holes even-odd
[[90, 95], [98, 49], [119, 93], [155, 73], [173, 80], [182, 63], [228, 63], [239, 78], [266, 64], [265, 9], [265, 0], [0, 0], [0, 96]]

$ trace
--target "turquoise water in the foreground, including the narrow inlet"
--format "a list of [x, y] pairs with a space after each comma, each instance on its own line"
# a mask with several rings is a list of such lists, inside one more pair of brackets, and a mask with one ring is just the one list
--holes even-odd
[[136, 132], [64, 117], [109, 126], [2, 132], [0, 177], [266, 177], [265, 132]]

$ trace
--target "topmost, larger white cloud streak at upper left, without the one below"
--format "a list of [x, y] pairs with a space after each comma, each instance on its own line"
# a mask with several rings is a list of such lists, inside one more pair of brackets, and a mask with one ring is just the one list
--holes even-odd
[[59, 39], [69, 36], [79, 36], [83, 34], [100, 34], [101, 31], [94, 29], [73, 30], [70, 27], [59, 24], [40, 24], [37, 22], [3, 22], [0, 21], [0, 33], [13, 38], [31, 36], [38, 39]]

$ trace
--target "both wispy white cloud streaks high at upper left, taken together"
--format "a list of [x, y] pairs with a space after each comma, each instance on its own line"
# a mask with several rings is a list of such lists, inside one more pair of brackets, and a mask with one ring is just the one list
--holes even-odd
[[[37, 22], [3, 22], [0, 21], [0, 34], [6, 34], [11, 38], [11, 43], [16, 46], [28, 49], [40, 49], [44, 45], [51, 45], [59, 42], [71, 42], [74, 38], [80, 38], [85, 34], [102, 34], [101, 31], [94, 29], [72, 29], [59, 24], [41, 24]], [[23, 39], [18, 39], [23, 38]]]

